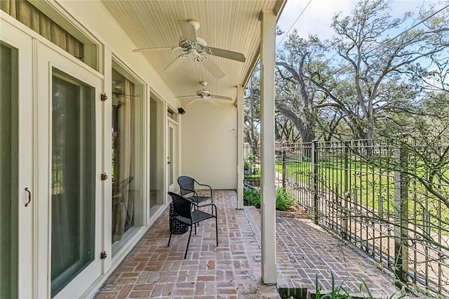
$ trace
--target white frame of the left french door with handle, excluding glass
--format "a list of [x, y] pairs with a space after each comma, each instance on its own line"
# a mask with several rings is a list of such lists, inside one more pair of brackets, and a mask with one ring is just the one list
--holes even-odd
[[[34, 261], [37, 256], [34, 226], [36, 215], [36, 185], [34, 171], [34, 133], [35, 118], [33, 107], [35, 97], [33, 81], [33, 41], [31, 36], [23, 34], [5, 22], [1, 23], [1, 41], [18, 48], [18, 298], [36, 298], [34, 281]], [[31, 192], [31, 202], [28, 192]], [[34, 231], [33, 231], [34, 230]]]

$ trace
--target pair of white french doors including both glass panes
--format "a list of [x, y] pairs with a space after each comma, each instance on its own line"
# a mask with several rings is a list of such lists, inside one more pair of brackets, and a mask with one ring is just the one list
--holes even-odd
[[78, 298], [102, 272], [102, 75], [62, 53], [1, 20], [1, 298]]

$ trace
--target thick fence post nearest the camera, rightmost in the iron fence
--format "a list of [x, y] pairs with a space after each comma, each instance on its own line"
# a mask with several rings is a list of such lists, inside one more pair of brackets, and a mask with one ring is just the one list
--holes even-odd
[[394, 170], [394, 251], [395, 275], [401, 282], [407, 281], [408, 273], [408, 153], [405, 147], [396, 150], [397, 167]]

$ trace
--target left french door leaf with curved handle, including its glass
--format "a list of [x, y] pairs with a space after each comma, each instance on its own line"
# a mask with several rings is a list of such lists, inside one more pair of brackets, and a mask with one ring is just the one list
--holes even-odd
[[1, 25], [0, 297], [36, 298], [32, 39]]

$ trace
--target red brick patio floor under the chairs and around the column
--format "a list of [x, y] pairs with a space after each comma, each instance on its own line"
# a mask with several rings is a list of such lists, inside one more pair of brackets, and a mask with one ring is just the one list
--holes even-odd
[[254, 207], [236, 210], [236, 192], [214, 193], [215, 221], [201, 222], [192, 234], [174, 234], [167, 247], [168, 208], [125, 260], [107, 279], [95, 298], [280, 298], [284, 288], [314, 291], [315, 274], [323, 290], [330, 274], [337, 285], [358, 291], [363, 280], [377, 298], [394, 293], [391, 278], [341, 241], [307, 220], [277, 217], [276, 263], [278, 288], [265, 286], [260, 274], [260, 214]]

